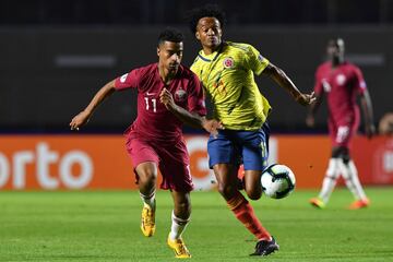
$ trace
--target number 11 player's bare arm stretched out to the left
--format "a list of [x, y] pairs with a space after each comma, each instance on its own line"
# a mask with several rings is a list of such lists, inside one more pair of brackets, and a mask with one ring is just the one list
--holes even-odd
[[87, 107], [72, 118], [70, 122], [71, 130], [79, 130], [80, 127], [88, 122], [94, 110], [105, 100], [106, 97], [115, 92], [115, 80], [104, 85], [93, 97]]

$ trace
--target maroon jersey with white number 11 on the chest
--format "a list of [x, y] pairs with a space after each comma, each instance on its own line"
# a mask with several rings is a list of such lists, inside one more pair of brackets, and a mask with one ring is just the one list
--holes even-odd
[[152, 63], [116, 79], [115, 87], [118, 91], [138, 90], [138, 117], [126, 131], [129, 138], [164, 144], [181, 139], [182, 122], [159, 102], [159, 93], [164, 87], [172, 94], [178, 106], [190, 112], [206, 115], [200, 81], [182, 66], [169, 85], [160, 79], [158, 63]]

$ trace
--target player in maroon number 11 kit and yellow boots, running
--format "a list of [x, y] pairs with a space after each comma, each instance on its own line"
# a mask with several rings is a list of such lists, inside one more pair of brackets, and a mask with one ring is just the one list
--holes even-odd
[[174, 249], [176, 258], [190, 258], [181, 234], [190, 219], [193, 183], [181, 126], [186, 122], [215, 133], [221, 123], [204, 118], [206, 108], [200, 81], [180, 64], [182, 40], [182, 34], [176, 29], [164, 31], [158, 37], [158, 63], [133, 69], [107, 83], [72, 119], [70, 127], [79, 130], [92, 117], [94, 109], [115, 91], [138, 91], [138, 117], [124, 134], [144, 202], [141, 229], [146, 237], [155, 233], [155, 184], [159, 168], [163, 175], [160, 188], [169, 190], [174, 199], [167, 243]]

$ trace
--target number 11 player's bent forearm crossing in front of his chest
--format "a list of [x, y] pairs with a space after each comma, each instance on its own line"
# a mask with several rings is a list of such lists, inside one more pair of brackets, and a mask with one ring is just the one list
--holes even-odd
[[163, 88], [159, 94], [159, 102], [165, 105], [165, 107], [171, 111], [178, 119], [180, 119], [186, 124], [192, 128], [202, 128], [209, 133], [216, 135], [218, 129], [224, 129], [223, 124], [215, 119], [206, 119], [205, 117], [199, 116], [198, 114], [192, 114], [186, 110], [182, 107], [176, 105], [174, 96], [167, 88]]

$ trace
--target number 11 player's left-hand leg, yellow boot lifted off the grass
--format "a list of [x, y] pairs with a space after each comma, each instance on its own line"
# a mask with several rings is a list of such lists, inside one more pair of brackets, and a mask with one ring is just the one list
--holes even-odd
[[132, 139], [128, 142], [128, 152], [134, 164], [134, 172], [143, 201], [141, 230], [146, 237], [155, 233], [155, 191], [157, 180], [158, 156], [148, 144]]

